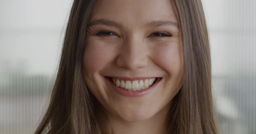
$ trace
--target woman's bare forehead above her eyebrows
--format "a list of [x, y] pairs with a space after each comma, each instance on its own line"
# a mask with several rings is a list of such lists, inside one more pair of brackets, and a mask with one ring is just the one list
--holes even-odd
[[114, 20], [126, 26], [145, 25], [152, 20], [178, 23], [172, 0], [96, 0], [90, 16], [94, 19]]

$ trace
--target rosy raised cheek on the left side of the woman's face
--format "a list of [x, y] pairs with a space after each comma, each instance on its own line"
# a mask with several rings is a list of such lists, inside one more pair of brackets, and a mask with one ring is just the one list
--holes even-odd
[[87, 72], [98, 72], [111, 61], [113, 51], [100, 41], [88, 42], [84, 49], [83, 64]]

